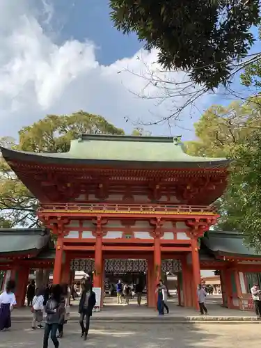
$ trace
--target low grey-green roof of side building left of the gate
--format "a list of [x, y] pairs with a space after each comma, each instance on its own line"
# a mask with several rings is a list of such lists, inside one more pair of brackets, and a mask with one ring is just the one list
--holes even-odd
[[39, 253], [47, 246], [50, 235], [42, 228], [0, 229], [0, 255], [6, 253]]

